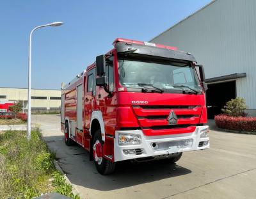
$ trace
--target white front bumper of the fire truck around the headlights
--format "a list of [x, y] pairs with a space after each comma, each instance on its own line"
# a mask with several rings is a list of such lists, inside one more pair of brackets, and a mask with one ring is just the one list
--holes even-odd
[[[116, 131], [115, 132], [115, 146], [114, 146], [114, 153], [115, 153], [115, 162], [117, 161], [124, 161], [127, 159], [136, 159], [141, 157], [152, 157], [157, 155], [168, 155], [168, 154], [175, 154], [177, 152], [186, 152], [191, 150], [202, 150], [207, 149], [210, 147], [209, 137], [207, 138], [200, 138], [200, 132], [208, 129], [207, 125], [205, 126], [198, 126], [196, 130], [192, 133], [186, 134], [174, 134], [168, 136], [144, 136], [141, 130], [133, 130], [133, 131]], [[118, 134], [139, 134], [141, 136], [141, 144], [140, 145], [118, 145]], [[180, 143], [185, 140], [189, 140], [189, 145], [187, 146], [175, 146], [175, 143]], [[199, 147], [199, 143], [203, 141], [208, 141], [207, 145]], [[157, 143], [157, 145], [165, 146], [168, 143], [172, 143], [171, 147], [168, 148], [161, 148], [154, 149], [152, 147], [153, 143]], [[174, 146], [173, 146], [174, 144]], [[142, 149], [143, 153], [138, 155], [127, 155], [124, 154], [124, 150], [127, 149]]]

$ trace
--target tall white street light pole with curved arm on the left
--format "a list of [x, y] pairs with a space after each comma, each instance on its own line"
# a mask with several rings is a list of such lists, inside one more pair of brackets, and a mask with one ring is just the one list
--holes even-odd
[[36, 28], [32, 29], [32, 31], [29, 34], [29, 54], [28, 54], [28, 131], [27, 131], [27, 138], [31, 138], [31, 41], [32, 41], [32, 35], [33, 32], [38, 28], [43, 28], [46, 26], [61, 26], [63, 22], [53, 22], [51, 24], [45, 24], [42, 26], [36, 26]]

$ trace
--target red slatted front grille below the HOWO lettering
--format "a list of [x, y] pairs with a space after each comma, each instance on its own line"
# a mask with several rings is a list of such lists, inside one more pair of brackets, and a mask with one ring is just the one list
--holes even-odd
[[[202, 113], [200, 105], [134, 105], [132, 107], [143, 133], [147, 136], [193, 132], [196, 124], [200, 122]], [[167, 120], [172, 111], [177, 116], [175, 125], [170, 125]]]

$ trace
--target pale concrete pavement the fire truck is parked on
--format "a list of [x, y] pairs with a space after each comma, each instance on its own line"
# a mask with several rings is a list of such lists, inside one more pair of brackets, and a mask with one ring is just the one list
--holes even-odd
[[67, 147], [60, 116], [33, 115], [81, 198], [256, 198], [256, 136], [211, 131], [211, 148], [185, 152], [177, 164], [120, 163], [100, 175], [88, 152]]

